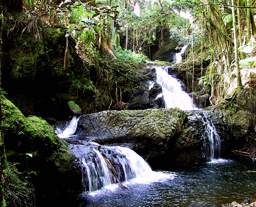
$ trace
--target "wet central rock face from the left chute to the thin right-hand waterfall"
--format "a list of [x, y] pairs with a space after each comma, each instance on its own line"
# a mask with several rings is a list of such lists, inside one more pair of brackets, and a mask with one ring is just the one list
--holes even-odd
[[130, 143], [154, 169], [170, 169], [206, 161], [204, 126], [195, 113], [178, 108], [103, 111], [82, 115], [76, 134], [102, 145]]

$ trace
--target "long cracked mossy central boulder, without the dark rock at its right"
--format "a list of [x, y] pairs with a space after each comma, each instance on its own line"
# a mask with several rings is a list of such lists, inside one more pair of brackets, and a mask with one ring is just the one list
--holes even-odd
[[186, 119], [178, 108], [103, 111], [80, 116], [77, 134], [99, 144], [132, 143], [149, 160], [164, 155]]

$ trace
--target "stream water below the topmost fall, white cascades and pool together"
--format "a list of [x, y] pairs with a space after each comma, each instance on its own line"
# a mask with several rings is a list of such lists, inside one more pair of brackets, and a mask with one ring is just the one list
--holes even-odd
[[[164, 68], [155, 68], [165, 107], [196, 110], [181, 84]], [[256, 199], [253, 182], [256, 173], [249, 172], [255, 171], [255, 165], [220, 159], [220, 137], [209, 114], [199, 110], [195, 115], [205, 126], [204, 147], [211, 162], [174, 172], [152, 171], [130, 148], [79, 140], [74, 136], [76, 117], [66, 128], [57, 128], [55, 132], [60, 138], [68, 139], [82, 168], [83, 193], [78, 200], [72, 200], [72, 206], [184, 207], [203, 200], [221, 206], [232, 201], [242, 202], [245, 197]]]

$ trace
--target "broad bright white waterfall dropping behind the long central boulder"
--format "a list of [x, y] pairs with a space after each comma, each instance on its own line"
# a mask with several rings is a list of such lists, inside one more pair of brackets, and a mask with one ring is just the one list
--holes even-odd
[[168, 69], [155, 66], [157, 83], [162, 86], [164, 107], [178, 107], [182, 110], [196, 110], [190, 96], [182, 90], [178, 80], [168, 74]]

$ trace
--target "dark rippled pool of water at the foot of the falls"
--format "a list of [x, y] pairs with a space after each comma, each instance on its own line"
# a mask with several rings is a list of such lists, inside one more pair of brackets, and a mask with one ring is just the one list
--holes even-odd
[[205, 163], [175, 171], [175, 178], [150, 184], [128, 183], [129, 190], [103, 190], [96, 195], [84, 194], [77, 207], [157, 207], [188, 206], [194, 201], [213, 202], [217, 206], [256, 200], [256, 165], [226, 160]]

